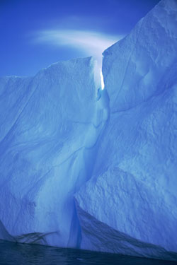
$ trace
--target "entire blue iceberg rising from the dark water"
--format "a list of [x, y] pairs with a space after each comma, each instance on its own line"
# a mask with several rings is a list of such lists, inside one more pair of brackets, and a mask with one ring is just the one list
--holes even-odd
[[0, 238], [177, 260], [177, 2], [93, 59], [0, 79]]

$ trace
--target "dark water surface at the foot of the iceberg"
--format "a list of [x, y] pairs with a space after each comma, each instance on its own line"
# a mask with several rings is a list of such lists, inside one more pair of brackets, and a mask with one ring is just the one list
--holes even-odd
[[41, 245], [28, 245], [0, 240], [1, 265], [172, 265], [174, 261], [161, 261], [158, 259], [144, 259], [101, 252], [90, 252], [79, 249], [63, 249], [45, 247]]

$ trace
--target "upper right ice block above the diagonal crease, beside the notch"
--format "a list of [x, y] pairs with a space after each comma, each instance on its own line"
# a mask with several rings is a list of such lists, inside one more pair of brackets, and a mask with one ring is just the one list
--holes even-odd
[[176, 83], [176, 28], [176, 0], [162, 0], [127, 37], [103, 52], [111, 112], [135, 107]]

